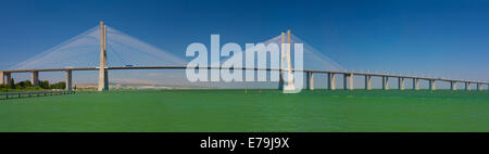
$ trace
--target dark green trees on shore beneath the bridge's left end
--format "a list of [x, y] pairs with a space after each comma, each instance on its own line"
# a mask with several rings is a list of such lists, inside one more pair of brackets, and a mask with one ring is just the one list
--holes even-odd
[[65, 89], [66, 84], [64, 81], [50, 84], [48, 80], [39, 80], [37, 86], [33, 86], [30, 80], [24, 80], [20, 82], [15, 82], [15, 80], [12, 78], [10, 84], [1, 84], [0, 90], [1, 91], [8, 91], [8, 90], [42, 90], [42, 89]]

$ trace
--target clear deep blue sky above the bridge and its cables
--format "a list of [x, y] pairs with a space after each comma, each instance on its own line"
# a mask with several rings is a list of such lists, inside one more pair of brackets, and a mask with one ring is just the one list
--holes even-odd
[[211, 34], [246, 43], [291, 29], [350, 69], [489, 76], [489, 1], [482, 0], [2, 1], [0, 68], [101, 20], [180, 55]]

